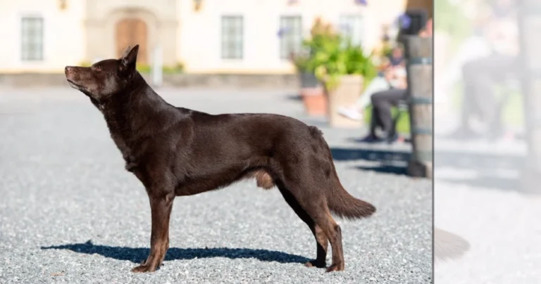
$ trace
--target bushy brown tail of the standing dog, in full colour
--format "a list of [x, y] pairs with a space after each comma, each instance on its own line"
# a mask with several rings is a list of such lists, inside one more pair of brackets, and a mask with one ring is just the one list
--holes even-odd
[[375, 213], [375, 206], [364, 200], [355, 198], [344, 189], [342, 183], [340, 183], [340, 179], [338, 179], [335, 164], [332, 162], [332, 153], [330, 152], [327, 142], [323, 138], [323, 133], [316, 127], [311, 127], [311, 134], [313, 138], [318, 139], [320, 146], [325, 148], [325, 151], [328, 153], [326, 162], [330, 163], [330, 167], [332, 168], [332, 173], [329, 176], [330, 190], [326, 191], [327, 205], [330, 211], [337, 214], [338, 217], [346, 219], [370, 217]]

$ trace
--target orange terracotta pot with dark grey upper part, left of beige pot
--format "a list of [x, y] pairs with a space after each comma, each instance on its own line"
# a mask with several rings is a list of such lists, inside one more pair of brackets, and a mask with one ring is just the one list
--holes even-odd
[[322, 116], [328, 113], [328, 100], [321, 82], [311, 73], [299, 74], [301, 98], [308, 115]]

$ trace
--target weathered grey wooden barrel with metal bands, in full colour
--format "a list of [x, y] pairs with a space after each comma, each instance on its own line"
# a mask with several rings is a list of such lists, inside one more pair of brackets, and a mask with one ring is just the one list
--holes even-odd
[[408, 105], [413, 152], [411, 176], [432, 178], [432, 37], [406, 37]]

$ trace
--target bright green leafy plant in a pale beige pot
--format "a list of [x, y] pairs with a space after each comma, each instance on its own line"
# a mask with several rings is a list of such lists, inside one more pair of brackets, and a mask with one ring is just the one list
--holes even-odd
[[[337, 108], [349, 107], [361, 96], [364, 86], [378, 75], [371, 55], [354, 46], [339, 34], [323, 34], [314, 49], [314, 74], [323, 82], [328, 97], [329, 122], [332, 127], [359, 127], [360, 122], [337, 114]], [[315, 43], [313, 43], [314, 45]]]

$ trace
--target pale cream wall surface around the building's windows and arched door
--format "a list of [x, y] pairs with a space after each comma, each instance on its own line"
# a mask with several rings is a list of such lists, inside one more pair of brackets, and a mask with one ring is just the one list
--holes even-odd
[[[95, 2], [88, 5], [87, 1]], [[62, 72], [65, 65], [115, 56], [111, 19], [129, 7], [142, 8], [152, 15], [147, 18], [155, 19], [149, 23], [149, 49], [161, 44], [163, 60], [185, 63], [187, 72], [288, 73], [294, 69], [280, 59], [280, 15], [301, 15], [308, 32], [318, 16], [337, 24], [342, 13], [362, 13], [364, 41], [371, 49], [380, 37], [381, 25], [402, 13], [406, 0], [373, 0], [368, 6], [356, 6], [353, 0], [299, 0], [294, 6], [288, 0], [203, 0], [200, 11], [194, 11], [193, 0], [67, 2], [68, 7], [61, 11], [58, 0], [0, 0], [0, 34], [8, 39], [0, 45], [0, 72]], [[20, 59], [20, 17], [25, 13], [44, 17], [42, 62]], [[244, 15], [242, 60], [220, 58], [220, 17], [228, 13]], [[89, 25], [92, 21], [97, 25]]]

